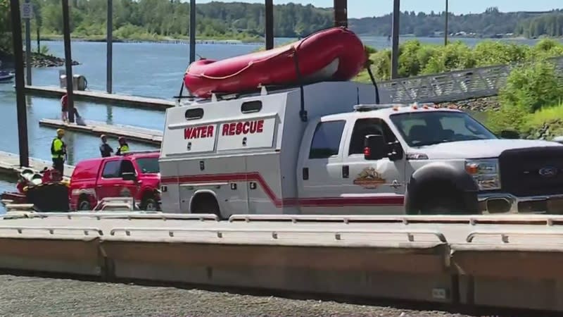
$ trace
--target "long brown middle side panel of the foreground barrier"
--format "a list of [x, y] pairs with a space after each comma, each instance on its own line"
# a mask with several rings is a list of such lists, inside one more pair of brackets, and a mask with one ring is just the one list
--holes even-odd
[[444, 243], [296, 247], [103, 240], [115, 278], [331, 295], [450, 302]]

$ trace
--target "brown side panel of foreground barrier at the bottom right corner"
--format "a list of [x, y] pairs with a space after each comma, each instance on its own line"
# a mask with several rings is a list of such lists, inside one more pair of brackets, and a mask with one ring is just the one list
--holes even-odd
[[454, 245], [460, 302], [563, 311], [563, 248]]

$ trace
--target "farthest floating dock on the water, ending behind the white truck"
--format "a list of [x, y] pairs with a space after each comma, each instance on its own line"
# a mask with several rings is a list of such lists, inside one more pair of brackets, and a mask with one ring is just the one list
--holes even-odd
[[[42, 96], [49, 98], [61, 98], [66, 93], [66, 89], [51, 86], [25, 86], [25, 93], [32, 96]], [[124, 94], [108, 94], [96, 91], [74, 91], [75, 100], [91, 101], [99, 104], [110, 104], [129, 108], [144, 108], [148, 110], [165, 111], [167, 108], [175, 106], [175, 101], [127, 96]]]

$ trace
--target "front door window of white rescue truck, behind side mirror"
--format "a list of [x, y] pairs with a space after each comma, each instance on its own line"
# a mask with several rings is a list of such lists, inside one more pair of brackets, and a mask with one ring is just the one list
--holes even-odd
[[377, 118], [358, 119], [352, 131], [348, 155], [363, 154], [366, 135], [383, 135], [386, 142], [397, 139], [385, 121]]

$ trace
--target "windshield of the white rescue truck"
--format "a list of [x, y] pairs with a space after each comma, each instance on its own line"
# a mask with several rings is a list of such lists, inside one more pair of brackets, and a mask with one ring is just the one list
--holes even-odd
[[411, 147], [475, 139], [497, 139], [493, 132], [462, 112], [397, 113], [391, 115], [391, 122]]

